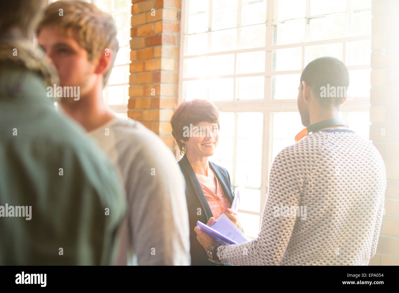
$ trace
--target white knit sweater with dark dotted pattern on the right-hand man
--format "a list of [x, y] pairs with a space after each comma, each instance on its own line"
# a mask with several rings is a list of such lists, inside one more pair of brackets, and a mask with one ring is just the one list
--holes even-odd
[[219, 246], [217, 257], [233, 265], [367, 265], [386, 185], [373, 144], [352, 130], [314, 132], [274, 160], [258, 237]]

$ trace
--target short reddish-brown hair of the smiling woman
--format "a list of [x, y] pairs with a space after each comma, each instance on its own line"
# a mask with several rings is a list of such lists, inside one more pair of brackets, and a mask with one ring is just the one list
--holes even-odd
[[219, 125], [219, 110], [212, 102], [208, 100], [194, 99], [182, 102], [174, 111], [170, 124], [172, 125], [172, 136], [175, 140], [175, 149], [180, 149], [180, 155], [186, 152], [186, 148], [180, 140], [188, 141], [187, 137], [183, 136], [184, 126], [190, 127], [199, 122], [216, 123]]

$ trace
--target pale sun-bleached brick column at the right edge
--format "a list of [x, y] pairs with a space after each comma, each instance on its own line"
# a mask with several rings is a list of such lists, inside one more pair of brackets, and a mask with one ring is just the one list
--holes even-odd
[[399, 1], [373, 0], [370, 139], [387, 170], [385, 216], [370, 265], [399, 265]]

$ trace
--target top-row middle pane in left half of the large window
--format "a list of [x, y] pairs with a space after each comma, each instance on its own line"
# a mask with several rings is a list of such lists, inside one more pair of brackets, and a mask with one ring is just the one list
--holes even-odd
[[212, 0], [213, 31], [237, 26], [237, 4], [238, 0]]

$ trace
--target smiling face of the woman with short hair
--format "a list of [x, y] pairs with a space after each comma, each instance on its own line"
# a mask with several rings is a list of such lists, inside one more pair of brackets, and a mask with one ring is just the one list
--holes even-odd
[[186, 145], [186, 152], [191, 156], [210, 157], [215, 153], [219, 141], [219, 127], [216, 123], [199, 122], [190, 127], [188, 134], [188, 141], [181, 142]]

